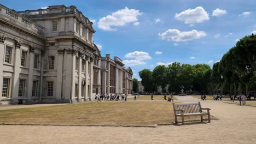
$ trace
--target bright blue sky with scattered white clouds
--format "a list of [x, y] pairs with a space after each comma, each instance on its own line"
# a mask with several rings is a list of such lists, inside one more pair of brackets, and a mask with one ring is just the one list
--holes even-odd
[[118, 56], [138, 71], [172, 62], [213, 65], [236, 44], [256, 33], [256, 1], [0, 1], [10, 9], [75, 5], [96, 21], [94, 43], [102, 56]]

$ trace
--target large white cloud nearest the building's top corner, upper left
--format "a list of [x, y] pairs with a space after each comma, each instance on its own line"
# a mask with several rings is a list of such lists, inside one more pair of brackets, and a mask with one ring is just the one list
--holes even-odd
[[124, 26], [127, 23], [136, 23], [139, 15], [142, 15], [139, 10], [125, 7], [115, 11], [112, 15], [102, 17], [98, 21], [98, 28], [104, 31], [117, 31], [117, 27]]

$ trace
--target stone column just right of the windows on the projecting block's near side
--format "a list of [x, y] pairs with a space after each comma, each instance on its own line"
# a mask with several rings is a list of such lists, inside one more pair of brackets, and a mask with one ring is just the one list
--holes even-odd
[[63, 53], [65, 50], [57, 50], [57, 85], [56, 85], [56, 100], [61, 102], [62, 99], [62, 76], [63, 76]]

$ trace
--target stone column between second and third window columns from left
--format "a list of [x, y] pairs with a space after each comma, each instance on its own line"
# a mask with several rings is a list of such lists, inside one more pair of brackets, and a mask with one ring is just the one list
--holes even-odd
[[33, 85], [33, 71], [34, 71], [34, 47], [30, 46], [30, 53], [29, 53], [29, 65], [28, 65], [28, 81], [27, 81], [27, 99], [26, 103], [32, 103], [32, 85]]

